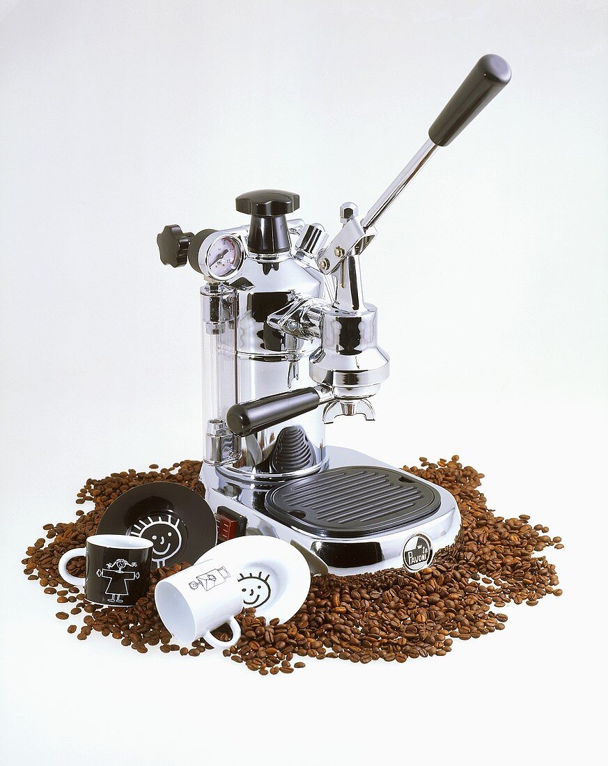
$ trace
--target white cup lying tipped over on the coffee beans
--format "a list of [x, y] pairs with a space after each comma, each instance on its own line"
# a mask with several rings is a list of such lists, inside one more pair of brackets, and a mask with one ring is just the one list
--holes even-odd
[[[212, 647], [231, 647], [240, 638], [235, 614], [243, 611], [243, 598], [236, 578], [217, 558], [197, 561], [156, 584], [154, 600], [160, 618], [179, 643], [204, 638]], [[227, 623], [229, 641], [220, 641], [211, 630]]]

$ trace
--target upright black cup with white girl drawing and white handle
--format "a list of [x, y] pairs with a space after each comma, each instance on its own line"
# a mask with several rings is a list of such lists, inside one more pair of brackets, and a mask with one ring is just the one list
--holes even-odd
[[[84, 588], [84, 597], [106, 607], [132, 607], [148, 592], [153, 543], [127, 535], [93, 535], [86, 548], [61, 556], [59, 574], [66, 582]], [[86, 575], [74, 577], [67, 562], [87, 557]]]

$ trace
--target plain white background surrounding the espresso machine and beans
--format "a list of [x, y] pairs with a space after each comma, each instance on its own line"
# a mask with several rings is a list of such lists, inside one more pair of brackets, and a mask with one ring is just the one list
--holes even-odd
[[[5, 762], [597, 761], [606, 2], [0, 8]], [[443, 659], [276, 678], [68, 636], [18, 565], [41, 525], [88, 476], [201, 454], [200, 277], [162, 267], [157, 232], [242, 224], [234, 197], [270, 186], [335, 233], [488, 52], [512, 83], [364, 256], [391, 378], [377, 421], [329, 440], [398, 465], [458, 452], [490, 507], [564, 538], [564, 596]]]

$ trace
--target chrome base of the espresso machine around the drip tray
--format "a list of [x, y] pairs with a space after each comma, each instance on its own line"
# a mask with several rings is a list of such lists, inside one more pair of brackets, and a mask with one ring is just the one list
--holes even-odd
[[247, 534], [278, 537], [306, 555], [313, 572], [356, 575], [404, 565], [412, 535], [433, 552], [460, 529], [456, 500], [440, 486], [345, 447], [327, 447], [328, 466], [306, 479], [240, 483], [204, 464], [201, 482], [214, 510], [247, 519]]

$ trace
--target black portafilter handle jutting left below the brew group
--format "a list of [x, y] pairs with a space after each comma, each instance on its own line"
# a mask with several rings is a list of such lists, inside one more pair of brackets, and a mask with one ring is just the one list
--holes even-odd
[[265, 396], [244, 404], [233, 404], [227, 411], [226, 423], [233, 434], [250, 436], [256, 431], [288, 421], [319, 407], [321, 398], [315, 388], [298, 388], [285, 394]]

